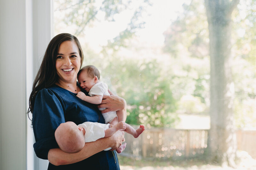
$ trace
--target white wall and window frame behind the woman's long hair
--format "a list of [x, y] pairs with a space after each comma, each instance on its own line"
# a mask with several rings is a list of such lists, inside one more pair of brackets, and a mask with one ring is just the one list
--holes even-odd
[[46, 169], [36, 158], [28, 97], [52, 38], [52, 0], [0, 1], [0, 170]]

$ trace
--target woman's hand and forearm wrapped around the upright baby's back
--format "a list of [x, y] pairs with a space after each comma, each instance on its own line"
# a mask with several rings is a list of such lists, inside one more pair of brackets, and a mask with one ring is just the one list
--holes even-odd
[[118, 121], [126, 120], [126, 101], [122, 97], [113, 95], [113, 93], [108, 90], [110, 96], [103, 96], [101, 104], [98, 105], [99, 108], [107, 108], [101, 113], [116, 111]]

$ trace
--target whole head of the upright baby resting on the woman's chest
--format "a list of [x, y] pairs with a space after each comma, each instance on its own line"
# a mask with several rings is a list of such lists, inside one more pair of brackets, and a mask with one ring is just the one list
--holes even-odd
[[77, 80], [80, 86], [89, 92], [92, 86], [100, 80], [100, 72], [95, 66], [85, 66], [77, 73]]

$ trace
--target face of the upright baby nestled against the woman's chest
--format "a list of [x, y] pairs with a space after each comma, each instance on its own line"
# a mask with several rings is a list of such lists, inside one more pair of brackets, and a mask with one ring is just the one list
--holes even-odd
[[[95, 76], [96, 77], [96, 76]], [[92, 86], [94, 84], [97, 83], [98, 79], [96, 80], [92, 77], [89, 77], [86, 71], [83, 71], [79, 74], [79, 76], [77, 77], [78, 83], [80, 84], [80, 86], [87, 92], [90, 91], [90, 89], [92, 88]]]

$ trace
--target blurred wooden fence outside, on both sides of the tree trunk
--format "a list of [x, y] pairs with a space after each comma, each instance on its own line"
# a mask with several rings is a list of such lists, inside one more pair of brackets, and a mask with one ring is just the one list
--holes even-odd
[[[236, 134], [237, 148], [256, 158], [256, 131], [237, 130]], [[121, 154], [147, 159], [199, 158], [207, 148], [207, 136], [208, 129], [150, 128], [138, 138], [125, 133], [127, 145]]]

